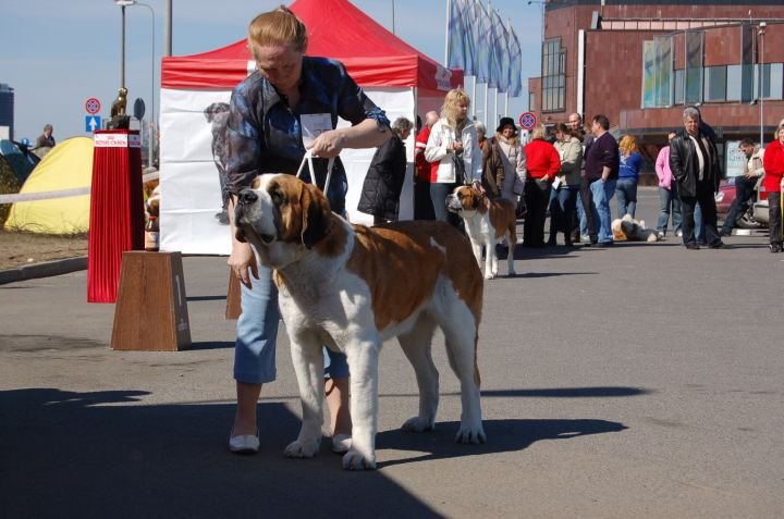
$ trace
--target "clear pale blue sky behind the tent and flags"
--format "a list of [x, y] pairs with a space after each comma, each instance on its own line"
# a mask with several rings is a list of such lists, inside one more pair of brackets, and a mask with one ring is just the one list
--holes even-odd
[[[167, 2], [142, 3], [149, 5], [154, 15], [144, 5], [125, 9], [125, 83], [128, 111], [135, 99], [142, 98], [149, 115], [154, 96], [156, 113], [159, 106], [157, 89]], [[207, 52], [243, 39], [254, 16], [280, 3], [291, 1], [173, 0], [172, 54]], [[443, 63], [446, 0], [352, 0], [352, 3], [389, 30], [394, 13], [395, 35]], [[523, 48], [523, 95], [510, 98], [509, 102], [509, 114], [515, 120], [528, 108], [528, 77], [539, 76], [541, 7], [542, 2], [492, 0], [492, 8], [500, 11], [502, 18], [511, 20]], [[53, 125], [58, 141], [89, 136], [85, 128], [85, 101], [97, 98], [101, 102], [99, 115], [106, 119], [120, 87], [121, 9], [113, 0], [2, 0], [0, 13], [0, 83], [14, 89], [14, 139], [34, 141], [47, 123]], [[470, 86], [468, 91], [471, 92]], [[482, 94], [480, 84], [474, 99], [480, 110], [485, 104]], [[492, 99], [489, 113], [493, 113]], [[499, 116], [503, 111], [500, 96]]]

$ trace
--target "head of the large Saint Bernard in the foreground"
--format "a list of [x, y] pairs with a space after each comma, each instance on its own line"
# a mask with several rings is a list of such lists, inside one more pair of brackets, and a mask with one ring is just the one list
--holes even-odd
[[234, 208], [236, 238], [248, 242], [268, 267], [296, 261], [329, 233], [327, 197], [293, 175], [265, 174], [243, 189]]

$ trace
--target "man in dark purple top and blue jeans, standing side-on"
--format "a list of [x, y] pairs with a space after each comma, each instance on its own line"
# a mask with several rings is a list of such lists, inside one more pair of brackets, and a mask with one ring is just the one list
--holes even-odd
[[587, 184], [587, 200], [584, 208], [588, 220], [587, 245], [612, 245], [610, 200], [615, 194], [620, 158], [618, 145], [610, 132], [610, 120], [607, 115], [595, 115], [591, 121], [593, 143], [586, 151], [586, 169], [583, 183]]

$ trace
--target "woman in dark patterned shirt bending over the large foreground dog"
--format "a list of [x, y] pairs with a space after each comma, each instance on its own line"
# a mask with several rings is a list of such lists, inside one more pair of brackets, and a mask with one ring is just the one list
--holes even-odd
[[[344, 148], [381, 146], [392, 134], [384, 112], [348, 76], [343, 64], [305, 55], [307, 28], [287, 8], [281, 5], [254, 18], [248, 26], [248, 48], [256, 71], [232, 91], [223, 191], [232, 227], [229, 265], [243, 285], [234, 347], [237, 408], [229, 437], [232, 453], [258, 452], [256, 411], [262, 384], [275, 379], [280, 318], [270, 270], [257, 265], [250, 245], [235, 237], [236, 195], [259, 174], [296, 174], [306, 147], [316, 157], [315, 177], [308, 172], [303, 180], [324, 186], [329, 158], [336, 158]], [[331, 129], [339, 116], [351, 126]], [[340, 158], [330, 173], [329, 187], [323, 188], [332, 211], [340, 214], [345, 210], [347, 189]], [[331, 386], [328, 382], [326, 390], [330, 413], [333, 421], [338, 419], [332, 431], [333, 449], [345, 452], [351, 436], [348, 372], [344, 356], [332, 356], [331, 361]]]

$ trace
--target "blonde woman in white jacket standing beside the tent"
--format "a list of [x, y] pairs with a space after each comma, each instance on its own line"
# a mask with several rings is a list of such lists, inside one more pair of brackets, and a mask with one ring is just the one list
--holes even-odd
[[[436, 220], [451, 222], [458, 227], [460, 219], [446, 211], [446, 195], [452, 193], [456, 185], [466, 182], [481, 189], [482, 155], [476, 128], [468, 119], [468, 107], [470, 98], [465, 90], [450, 90], [441, 107], [441, 119], [430, 128], [430, 138], [425, 148], [425, 159], [439, 163], [436, 180], [430, 183]], [[455, 169], [455, 160], [461, 159], [465, 164], [465, 178], [458, 178]]]

